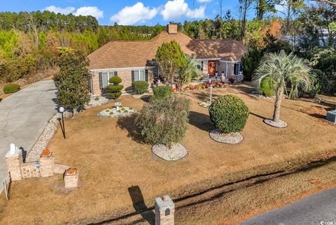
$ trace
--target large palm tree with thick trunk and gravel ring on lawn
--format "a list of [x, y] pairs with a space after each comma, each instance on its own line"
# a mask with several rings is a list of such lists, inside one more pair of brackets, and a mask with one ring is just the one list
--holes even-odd
[[286, 92], [286, 84], [290, 83], [289, 97], [293, 99], [298, 96], [300, 91], [307, 92], [311, 89], [312, 76], [311, 68], [307, 66], [304, 59], [295, 56], [293, 52], [286, 55], [281, 50], [277, 53], [267, 53], [262, 57], [258, 68], [253, 75], [253, 82], [260, 89], [263, 78], [271, 78], [274, 81], [274, 114], [272, 119], [264, 119], [266, 124], [276, 127], [286, 127], [287, 123], [280, 120], [280, 108], [283, 93]]

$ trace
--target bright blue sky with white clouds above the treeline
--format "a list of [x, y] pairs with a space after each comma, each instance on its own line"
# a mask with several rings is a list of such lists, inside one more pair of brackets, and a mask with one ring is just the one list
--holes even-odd
[[[231, 10], [234, 17], [238, 17], [238, 0], [223, 0], [223, 14]], [[51, 10], [55, 13], [73, 13], [74, 15], [93, 15], [97, 17], [99, 24], [134, 24], [155, 25], [167, 24], [169, 21], [183, 22], [184, 20], [196, 20], [214, 18], [220, 13], [218, 0], [10, 0], [1, 1], [0, 11], [33, 11]], [[253, 10], [251, 15], [253, 16]]]

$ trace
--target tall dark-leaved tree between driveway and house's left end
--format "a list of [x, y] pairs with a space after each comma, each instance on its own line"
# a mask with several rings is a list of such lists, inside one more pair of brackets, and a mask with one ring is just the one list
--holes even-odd
[[62, 48], [58, 59], [59, 73], [53, 80], [58, 90], [57, 101], [60, 106], [72, 110], [73, 115], [90, 101], [89, 61], [78, 50]]

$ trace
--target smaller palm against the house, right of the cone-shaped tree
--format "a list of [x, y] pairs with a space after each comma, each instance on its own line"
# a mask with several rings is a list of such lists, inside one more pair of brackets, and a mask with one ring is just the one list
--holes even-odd
[[202, 75], [200, 69], [197, 68], [200, 65], [200, 61], [197, 61], [195, 57], [187, 56], [186, 62], [186, 67], [182, 68], [176, 77], [177, 85], [180, 89], [192, 79], [200, 78]]

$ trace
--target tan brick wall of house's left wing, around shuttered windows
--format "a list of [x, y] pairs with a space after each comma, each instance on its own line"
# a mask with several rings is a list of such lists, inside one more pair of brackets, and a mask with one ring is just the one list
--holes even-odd
[[[104, 73], [112, 73], [113, 71], [104, 71]], [[118, 70], [118, 76], [123, 80], [121, 85], [124, 85], [122, 92], [132, 92], [132, 70]], [[148, 68], [148, 84], [151, 86], [154, 80], [154, 69]], [[92, 73], [93, 94], [99, 96], [102, 90], [99, 88], [99, 73]]]

